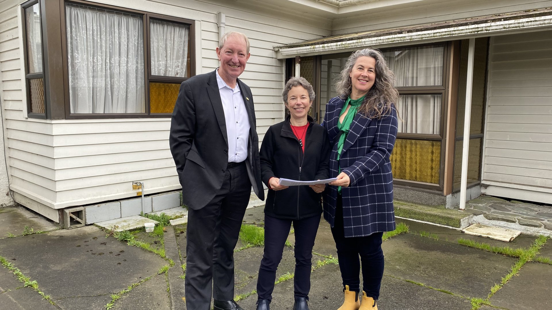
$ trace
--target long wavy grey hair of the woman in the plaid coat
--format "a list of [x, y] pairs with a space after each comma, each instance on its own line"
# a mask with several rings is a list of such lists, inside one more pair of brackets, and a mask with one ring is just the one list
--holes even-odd
[[399, 100], [399, 92], [393, 86], [395, 84], [395, 75], [387, 66], [387, 62], [380, 51], [364, 49], [353, 52], [337, 78], [336, 91], [342, 99], [347, 99], [351, 95], [352, 82], [349, 73], [353, 70], [354, 63], [362, 56], [372, 57], [376, 60], [376, 80], [374, 85], [368, 90], [364, 102], [360, 105], [358, 111], [363, 115], [379, 119], [390, 114], [391, 104]]

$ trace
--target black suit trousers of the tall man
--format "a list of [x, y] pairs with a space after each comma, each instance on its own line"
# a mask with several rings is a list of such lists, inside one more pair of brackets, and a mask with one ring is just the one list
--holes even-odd
[[[234, 248], [251, 195], [246, 163], [225, 169], [221, 189], [205, 207], [188, 210], [186, 307], [209, 310], [234, 298]], [[213, 291], [211, 291], [211, 287]]]

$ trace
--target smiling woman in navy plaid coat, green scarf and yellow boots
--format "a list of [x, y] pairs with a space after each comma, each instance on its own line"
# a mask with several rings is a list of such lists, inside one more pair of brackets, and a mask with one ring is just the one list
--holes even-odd
[[336, 82], [338, 97], [326, 105], [322, 125], [332, 145], [330, 175], [338, 180], [325, 190], [323, 212], [343, 278], [345, 301], [338, 310], [378, 309], [384, 269], [381, 237], [395, 229], [389, 156], [397, 135], [393, 103], [399, 93], [393, 84], [381, 52], [355, 51]]

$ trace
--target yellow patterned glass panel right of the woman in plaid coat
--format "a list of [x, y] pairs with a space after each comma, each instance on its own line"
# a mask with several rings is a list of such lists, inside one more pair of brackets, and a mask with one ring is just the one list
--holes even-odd
[[439, 184], [440, 141], [397, 139], [390, 159], [393, 178]]

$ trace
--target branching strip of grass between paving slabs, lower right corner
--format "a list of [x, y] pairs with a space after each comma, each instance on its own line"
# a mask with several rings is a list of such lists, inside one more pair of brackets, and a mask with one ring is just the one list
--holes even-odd
[[[490, 303], [491, 297], [495, 295], [495, 293], [498, 292], [498, 290], [500, 290], [503, 286], [505, 286], [508, 283], [508, 281], [512, 279], [513, 276], [519, 275], [519, 270], [522, 269], [523, 265], [527, 264], [529, 261], [535, 260], [535, 256], [539, 254], [540, 248], [543, 247], [543, 245], [546, 243], [547, 240], [548, 240], [548, 237], [541, 235], [527, 249], [513, 250], [512, 248], [509, 248], [509, 247], [496, 247], [498, 249], [495, 249], [495, 250], [501, 250], [504, 253], [498, 253], [498, 252], [493, 252], [493, 253], [498, 253], [498, 254], [503, 254], [508, 256], [514, 256], [514, 255], [509, 255], [513, 253], [519, 254], [519, 256], [516, 256], [518, 257], [518, 260], [516, 260], [516, 263], [513, 264], [510, 272], [508, 272], [506, 276], [502, 277], [500, 284], [495, 284], [491, 287], [491, 292], [489, 293], [487, 298], [485, 298], [485, 300], [482, 298], [471, 298], [471, 310], [477, 310], [485, 304], [491, 305]], [[459, 240], [459, 243], [460, 243], [460, 240]], [[481, 248], [483, 250], [489, 250], [489, 248], [493, 248], [493, 247], [490, 247], [489, 244], [482, 244], [482, 243], [476, 243], [476, 244], [479, 245], [478, 248]], [[515, 251], [515, 252], [512, 252], [512, 251]]]

